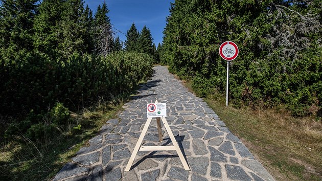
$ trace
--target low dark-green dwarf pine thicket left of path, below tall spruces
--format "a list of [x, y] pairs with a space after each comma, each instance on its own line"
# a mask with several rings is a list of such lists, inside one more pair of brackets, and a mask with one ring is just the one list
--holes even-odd
[[99, 99], [110, 100], [130, 92], [151, 76], [152, 62], [150, 56], [134, 52], [116, 52], [106, 58], [88, 54], [63, 58], [55, 52], [21, 51], [2, 57], [0, 115], [20, 115], [7, 135], [28, 130], [30, 137], [38, 138], [40, 130], [52, 129], [43, 121], [49, 107], [53, 107], [50, 122], [66, 125], [68, 110], [78, 111]]

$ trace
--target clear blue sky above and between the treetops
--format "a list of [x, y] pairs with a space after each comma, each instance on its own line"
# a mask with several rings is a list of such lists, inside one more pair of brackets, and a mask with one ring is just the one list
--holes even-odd
[[[85, 4], [94, 13], [103, 2], [104, 0], [85, 0]], [[170, 14], [170, 2], [173, 3], [174, 0], [106, 0], [108, 16], [114, 28], [122, 32], [118, 32], [122, 41], [126, 40], [126, 32], [134, 22], [139, 31], [144, 25], [150, 29], [155, 46], [162, 43], [166, 17]]]

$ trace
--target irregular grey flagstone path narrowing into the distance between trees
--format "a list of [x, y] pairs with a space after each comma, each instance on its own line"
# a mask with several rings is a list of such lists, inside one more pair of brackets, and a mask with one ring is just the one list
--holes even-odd
[[[169, 74], [165, 66], [143, 85], [118, 119], [81, 148], [53, 180], [274, 180], [215, 112]], [[146, 104], [167, 103], [166, 117], [191, 171], [185, 171], [175, 151], [139, 151], [130, 171], [124, 171], [146, 123]], [[158, 142], [155, 119], [145, 146], [172, 145], [163, 127]]]

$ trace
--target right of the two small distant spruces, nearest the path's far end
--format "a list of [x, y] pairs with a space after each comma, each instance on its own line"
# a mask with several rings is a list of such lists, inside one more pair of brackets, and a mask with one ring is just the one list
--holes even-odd
[[154, 57], [155, 51], [153, 48], [153, 38], [150, 30], [146, 26], [144, 26], [143, 29], [141, 30], [138, 45], [139, 45], [139, 52], [146, 53], [151, 57]]

